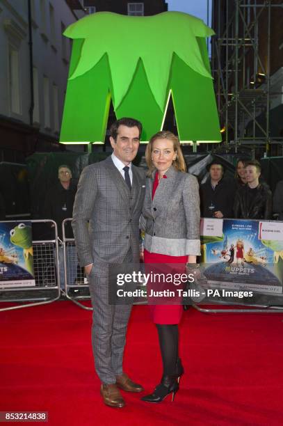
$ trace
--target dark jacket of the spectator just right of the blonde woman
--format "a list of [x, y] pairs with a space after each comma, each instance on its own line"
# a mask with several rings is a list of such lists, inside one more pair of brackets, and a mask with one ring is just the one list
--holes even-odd
[[[211, 187], [211, 180], [200, 185], [200, 212], [202, 217], [214, 217], [215, 212], [223, 213], [223, 217], [233, 217], [233, 203], [236, 193], [236, 184], [232, 180], [221, 179], [215, 189]], [[214, 206], [214, 209], [209, 207]]]

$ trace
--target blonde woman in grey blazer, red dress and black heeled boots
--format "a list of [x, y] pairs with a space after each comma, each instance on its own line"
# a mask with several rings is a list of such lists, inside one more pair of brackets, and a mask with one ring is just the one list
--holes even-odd
[[[196, 272], [200, 255], [200, 198], [197, 180], [186, 172], [179, 139], [171, 132], [152, 136], [145, 152], [149, 168], [141, 228], [145, 230], [145, 263], [178, 264], [176, 270]], [[177, 265], [176, 265], [177, 266]], [[162, 269], [162, 268], [161, 268]], [[161, 402], [179, 389], [184, 373], [178, 356], [181, 304], [149, 306], [159, 334], [163, 377], [154, 392], [142, 398]], [[178, 379], [178, 380], [177, 380]]]

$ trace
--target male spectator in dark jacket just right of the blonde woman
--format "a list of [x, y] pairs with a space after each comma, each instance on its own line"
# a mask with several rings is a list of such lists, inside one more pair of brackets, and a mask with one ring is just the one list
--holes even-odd
[[209, 179], [200, 185], [200, 212], [202, 217], [218, 219], [233, 216], [235, 185], [223, 178], [224, 168], [220, 161], [213, 160], [209, 166]]

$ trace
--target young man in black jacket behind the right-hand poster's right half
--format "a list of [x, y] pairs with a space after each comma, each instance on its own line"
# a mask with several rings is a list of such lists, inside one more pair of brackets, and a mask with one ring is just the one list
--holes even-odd
[[239, 188], [234, 203], [236, 219], [271, 219], [272, 194], [266, 184], [259, 183], [261, 166], [258, 161], [245, 162], [247, 184]]

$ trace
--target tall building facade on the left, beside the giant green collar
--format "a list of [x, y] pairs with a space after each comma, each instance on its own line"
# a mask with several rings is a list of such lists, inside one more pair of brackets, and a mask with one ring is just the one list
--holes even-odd
[[[0, 161], [58, 145], [79, 0], [0, 0]], [[63, 148], [65, 149], [65, 148]]]

